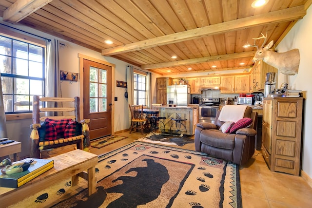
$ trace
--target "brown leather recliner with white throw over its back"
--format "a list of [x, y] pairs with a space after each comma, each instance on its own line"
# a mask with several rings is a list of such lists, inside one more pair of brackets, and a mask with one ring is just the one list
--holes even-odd
[[244, 117], [253, 119], [249, 128], [237, 130], [235, 133], [223, 133], [219, 128], [225, 123], [218, 120], [219, 110], [213, 123], [197, 123], [195, 128], [195, 150], [208, 155], [232, 161], [242, 165], [254, 154], [254, 142], [257, 126], [257, 112], [247, 107]]

